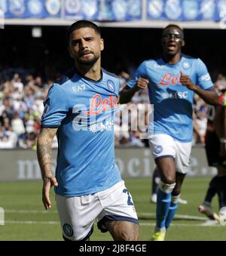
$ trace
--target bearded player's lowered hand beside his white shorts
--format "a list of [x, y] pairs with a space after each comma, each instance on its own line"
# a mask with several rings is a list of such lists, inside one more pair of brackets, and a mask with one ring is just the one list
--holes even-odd
[[51, 208], [50, 188], [53, 186], [54, 187], [58, 186], [56, 177], [44, 177], [43, 187], [42, 187], [42, 202], [46, 210]]

